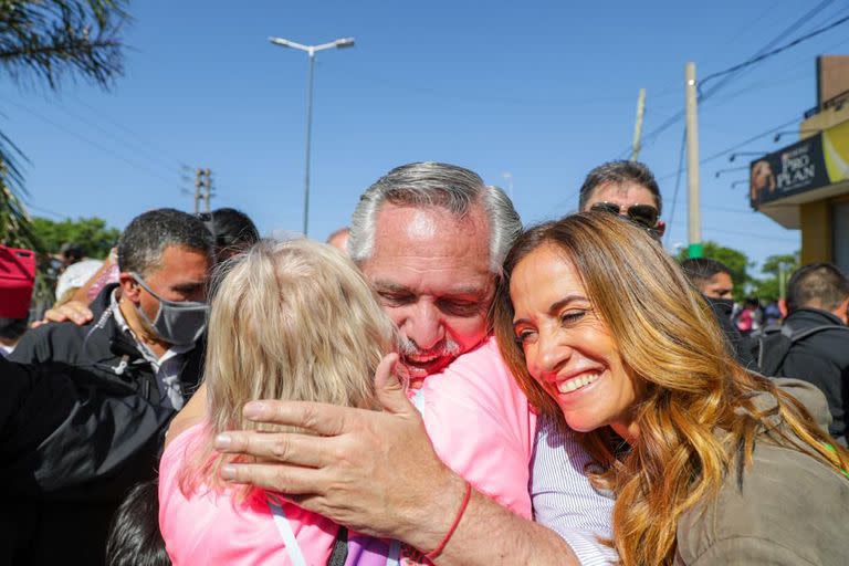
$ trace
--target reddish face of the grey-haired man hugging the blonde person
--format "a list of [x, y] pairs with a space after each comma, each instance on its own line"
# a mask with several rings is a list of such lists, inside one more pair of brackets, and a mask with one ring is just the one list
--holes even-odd
[[483, 210], [458, 219], [434, 207], [385, 203], [371, 258], [360, 264], [405, 338], [412, 381], [441, 371], [486, 337], [495, 279]]

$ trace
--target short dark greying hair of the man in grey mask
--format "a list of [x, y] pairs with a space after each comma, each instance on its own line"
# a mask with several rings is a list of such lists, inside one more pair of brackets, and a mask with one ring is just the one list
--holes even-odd
[[169, 245], [212, 255], [212, 234], [203, 222], [172, 208], [149, 210], [134, 218], [118, 240], [118, 269], [147, 276], [161, 263]]

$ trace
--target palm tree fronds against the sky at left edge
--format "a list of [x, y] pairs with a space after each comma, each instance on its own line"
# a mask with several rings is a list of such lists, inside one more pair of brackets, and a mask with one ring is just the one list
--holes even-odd
[[[0, 71], [55, 91], [67, 76], [108, 88], [123, 73], [128, 0], [0, 0]], [[27, 157], [0, 132], [0, 243], [44, 251], [23, 206]]]

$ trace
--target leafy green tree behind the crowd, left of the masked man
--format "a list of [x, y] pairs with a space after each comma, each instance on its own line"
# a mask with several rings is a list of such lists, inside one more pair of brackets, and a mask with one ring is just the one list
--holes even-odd
[[33, 218], [35, 237], [50, 253], [55, 253], [65, 242], [80, 244], [87, 258], [104, 259], [117, 243], [120, 231], [108, 228], [102, 218], [80, 218], [54, 222], [46, 218]]

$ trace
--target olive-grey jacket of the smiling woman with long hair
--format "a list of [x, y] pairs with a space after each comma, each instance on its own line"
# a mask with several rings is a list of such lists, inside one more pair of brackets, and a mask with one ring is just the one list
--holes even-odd
[[[827, 430], [828, 406], [816, 387], [776, 381]], [[775, 398], [755, 402], [766, 409]], [[849, 564], [849, 480], [798, 451], [756, 442], [751, 467], [729, 474], [715, 504], [684, 513], [677, 538], [677, 565]]]

